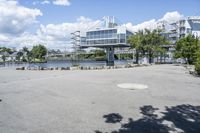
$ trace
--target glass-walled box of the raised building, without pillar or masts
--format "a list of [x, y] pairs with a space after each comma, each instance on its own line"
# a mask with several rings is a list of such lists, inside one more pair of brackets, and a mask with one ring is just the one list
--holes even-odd
[[85, 47], [128, 47], [127, 39], [132, 34], [125, 27], [96, 29], [87, 31], [81, 44]]

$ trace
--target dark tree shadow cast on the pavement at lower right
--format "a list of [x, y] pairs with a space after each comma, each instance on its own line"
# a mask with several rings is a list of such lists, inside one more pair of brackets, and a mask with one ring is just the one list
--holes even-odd
[[[111, 133], [169, 133], [181, 129], [184, 133], [200, 133], [200, 106], [192, 105], [178, 105], [174, 107], [166, 107], [166, 112], [163, 112], [163, 117], [159, 118], [155, 111], [159, 110], [151, 105], [143, 106], [140, 108], [142, 118], [133, 120], [129, 118], [127, 123], [121, 123], [121, 127], [118, 130]], [[117, 116], [104, 115], [106, 123], [117, 123], [116, 121], [110, 121], [111, 118], [116, 120]], [[107, 121], [109, 118], [109, 121]], [[120, 118], [123, 118], [122, 116]], [[164, 124], [164, 121], [172, 123], [172, 127]], [[96, 130], [95, 133], [103, 133]]]

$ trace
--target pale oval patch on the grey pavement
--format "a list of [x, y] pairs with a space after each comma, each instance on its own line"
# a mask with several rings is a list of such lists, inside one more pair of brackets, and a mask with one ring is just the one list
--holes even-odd
[[133, 89], [133, 90], [143, 90], [147, 89], [148, 86], [144, 84], [136, 84], [136, 83], [122, 83], [117, 85], [119, 88], [123, 89]]

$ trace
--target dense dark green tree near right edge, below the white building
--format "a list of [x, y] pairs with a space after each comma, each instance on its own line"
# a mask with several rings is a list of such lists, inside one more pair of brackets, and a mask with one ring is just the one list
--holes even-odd
[[189, 34], [176, 43], [175, 58], [184, 58], [188, 64], [194, 64], [197, 58], [198, 39]]

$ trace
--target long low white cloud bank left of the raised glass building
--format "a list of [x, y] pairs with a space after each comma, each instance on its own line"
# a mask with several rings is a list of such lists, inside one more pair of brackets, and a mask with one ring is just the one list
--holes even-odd
[[[23, 46], [31, 47], [36, 44], [44, 44], [48, 48], [54, 49], [70, 49], [71, 33], [81, 31], [84, 35], [85, 31], [99, 28], [102, 22], [100, 20], [91, 20], [86, 17], [77, 18], [74, 23], [47, 24], [42, 25], [35, 34], [24, 32], [18, 37], [7, 36], [7, 46], [22, 48]], [[0, 39], [5, 39], [0, 36]], [[0, 41], [1, 42], [1, 41]], [[1, 45], [1, 44], [0, 44]]]

